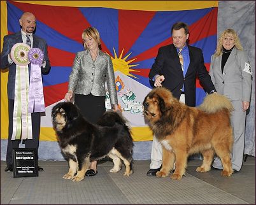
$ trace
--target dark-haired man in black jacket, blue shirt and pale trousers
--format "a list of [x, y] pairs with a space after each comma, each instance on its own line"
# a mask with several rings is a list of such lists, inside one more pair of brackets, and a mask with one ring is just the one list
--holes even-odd
[[[173, 96], [188, 106], [196, 106], [196, 78], [204, 90], [216, 92], [211, 77], [204, 66], [200, 48], [187, 45], [188, 25], [177, 22], [171, 28], [173, 44], [159, 48], [157, 58], [150, 69], [152, 87], [166, 87]], [[182, 62], [182, 63], [181, 63]], [[150, 170], [148, 176], [155, 176], [162, 164], [162, 146], [153, 137]]]

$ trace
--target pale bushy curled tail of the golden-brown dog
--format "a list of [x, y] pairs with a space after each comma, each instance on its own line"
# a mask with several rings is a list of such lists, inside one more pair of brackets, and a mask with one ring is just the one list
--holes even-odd
[[229, 101], [229, 99], [224, 95], [217, 93], [207, 95], [204, 98], [203, 103], [199, 106], [199, 109], [205, 111], [206, 113], [216, 113], [217, 111], [223, 109], [227, 109], [229, 111], [234, 110], [231, 101]]

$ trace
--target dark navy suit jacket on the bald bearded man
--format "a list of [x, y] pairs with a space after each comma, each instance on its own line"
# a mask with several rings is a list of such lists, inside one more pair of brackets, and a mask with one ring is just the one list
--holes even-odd
[[[8, 99], [14, 99], [15, 91], [15, 76], [16, 76], [16, 64], [13, 62], [11, 65], [8, 62], [8, 54], [11, 52], [11, 48], [16, 43], [22, 43], [22, 34], [18, 31], [15, 34], [4, 36], [3, 51], [1, 52], [1, 69], [9, 67], [7, 93]], [[48, 73], [50, 71], [50, 61], [48, 58], [46, 41], [33, 34], [33, 48], [40, 48], [44, 53], [46, 66], [41, 67], [42, 73]], [[30, 66], [29, 66], [30, 73]]]

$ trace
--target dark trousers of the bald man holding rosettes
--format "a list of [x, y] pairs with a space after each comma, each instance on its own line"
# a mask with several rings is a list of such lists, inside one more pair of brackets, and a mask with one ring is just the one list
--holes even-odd
[[[9, 112], [9, 129], [8, 129], [8, 143], [6, 151], [6, 164], [11, 166], [13, 164], [13, 148], [18, 148], [20, 140], [11, 140], [11, 135], [13, 133], [13, 108], [14, 100], [8, 99], [8, 112]], [[38, 154], [39, 145], [39, 134], [40, 134], [40, 113], [32, 113], [32, 139], [25, 139], [25, 148], [36, 148]]]

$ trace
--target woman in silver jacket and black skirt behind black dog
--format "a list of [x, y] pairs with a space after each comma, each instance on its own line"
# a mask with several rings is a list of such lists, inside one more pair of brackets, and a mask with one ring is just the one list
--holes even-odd
[[[85, 50], [76, 53], [72, 72], [69, 76], [66, 101], [75, 97], [75, 104], [80, 108], [83, 116], [96, 124], [103, 115], [105, 108], [106, 88], [110, 94], [111, 106], [118, 111], [117, 91], [115, 88], [115, 74], [111, 58], [100, 50], [101, 39], [94, 27], [85, 29], [82, 33]], [[90, 164], [87, 176], [97, 174], [97, 161]]]

